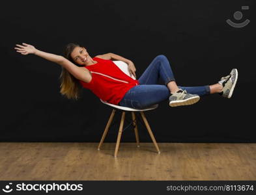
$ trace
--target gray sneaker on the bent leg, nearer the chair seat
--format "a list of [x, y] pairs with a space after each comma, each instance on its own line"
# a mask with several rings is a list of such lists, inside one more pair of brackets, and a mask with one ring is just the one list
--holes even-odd
[[200, 97], [198, 95], [188, 94], [186, 90], [179, 89], [169, 97], [169, 106], [178, 107], [181, 105], [192, 105], [193, 103], [197, 103], [199, 99]]

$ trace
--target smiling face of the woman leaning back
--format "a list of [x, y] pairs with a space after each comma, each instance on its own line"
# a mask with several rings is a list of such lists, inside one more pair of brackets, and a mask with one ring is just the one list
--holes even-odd
[[86, 65], [91, 59], [85, 47], [75, 47], [70, 56], [79, 65]]

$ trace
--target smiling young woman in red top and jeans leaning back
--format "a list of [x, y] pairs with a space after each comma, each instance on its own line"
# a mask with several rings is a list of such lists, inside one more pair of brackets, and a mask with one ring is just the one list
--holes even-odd
[[[112, 60], [126, 62], [130, 75], [136, 78], [134, 63], [113, 53], [92, 58], [85, 47], [68, 44], [62, 57], [25, 43], [16, 46], [14, 49], [21, 55], [32, 53], [61, 65], [60, 92], [66, 98], [78, 99], [79, 90], [83, 86], [108, 103], [134, 109], [150, 107], [166, 99], [169, 99], [171, 107], [192, 105], [199, 101], [200, 96], [216, 93], [231, 98], [238, 78], [238, 71], [233, 68], [229, 75], [214, 85], [177, 86], [169, 61], [164, 55], [158, 55], [152, 60], [139, 79], [132, 79]], [[158, 79], [162, 79], [164, 85], [158, 85]]]

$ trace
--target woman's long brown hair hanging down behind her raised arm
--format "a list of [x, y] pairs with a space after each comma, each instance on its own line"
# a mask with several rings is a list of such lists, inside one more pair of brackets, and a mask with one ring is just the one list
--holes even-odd
[[[76, 64], [76, 62], [73, 61], [70, 54], [75, 47], [80, 47], [80, 45], [70, 43], [67, 44], [64, 49], [64, 57], [74, 64]], [[76, 79], [76, 77], [74, 77], [70, 72], [68, 72], [68, 70], [66, 70], [66, 68], [63, 66], [61, 66], [61, 68], [61, 75], [59, 76], [59, 79], [61, 80], [60, 92], [68, 99], [77, 100], [80, 98], [81, 84], [79, 83], [78, 79]]]

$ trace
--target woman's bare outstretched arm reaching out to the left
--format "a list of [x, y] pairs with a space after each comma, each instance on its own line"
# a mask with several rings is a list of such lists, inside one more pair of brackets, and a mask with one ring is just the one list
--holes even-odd
[[37, 55], [38, 57], [42, 57], [46, 60], [55, 62], [63, 66], [64, 68], [66, 68], [66, 70], [68, 70], [68, 72], [70, 72], [74, 77], [76, 77], [76, 79], [79, 79], [86, 83], [89, 83], [91, 81], [92, 77], [89, 70], [87, 70], [86, 68], [76, 66], [75, 64], [70, 62], [70, 60], [65, 59], [61, 55], [55, 55], [53, 53], [40, 51], [39, 49], [36, 49], [33, 45], [25, 43], [23, 43], [23, 45], [16, 44], [16, 46], [18, 47], [14, 47], [14, 49], [16, 49], [16, 51], [21, 53], [22, 55], [28, 55], [29, 53]]

